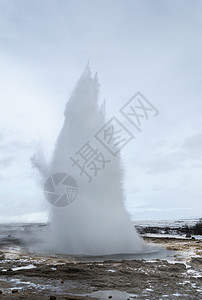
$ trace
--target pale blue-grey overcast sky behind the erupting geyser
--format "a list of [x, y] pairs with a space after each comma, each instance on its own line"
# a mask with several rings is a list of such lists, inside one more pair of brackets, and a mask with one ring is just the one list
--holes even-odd
[[30, 157], [50, 155], [88, 60], [108, 118], [137, 91], [159, 110], [122, 152], [131, 217], [202, 216], [201, 16], [200, 0], [0, 0], [0, 221], [45, 216]]

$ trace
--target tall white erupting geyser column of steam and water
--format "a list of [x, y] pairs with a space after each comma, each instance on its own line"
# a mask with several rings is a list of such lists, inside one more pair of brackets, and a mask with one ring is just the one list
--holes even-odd
[[[78, 184], [78, 195], [72, 203], [63, 208], [51, 206], [46, 235], [51, 252], [109, 255], [143, 251], [142, 240], [124, 208], [120, 156], [112, 157], [94, 138], [105, 124], [104, 105], [98, 104], [98, 92], [97, 75], [92, 78], [87, 66], [66, 105], [64, 125], [51, 162], [47, 167], [42, 159], [34, 159], [44, 182], [50, 175], [62, 172]], [[86, 142], [108, 161], [90, 183], [84, 172], [72, 166], [71, 160]]]

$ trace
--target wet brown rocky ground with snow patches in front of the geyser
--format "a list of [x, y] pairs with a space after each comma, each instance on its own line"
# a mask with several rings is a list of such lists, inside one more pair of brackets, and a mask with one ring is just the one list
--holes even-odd
[[0, 299], [202, 299], [202, 241], [144, 239], [167, 257], [77, 261], [2, 245]]

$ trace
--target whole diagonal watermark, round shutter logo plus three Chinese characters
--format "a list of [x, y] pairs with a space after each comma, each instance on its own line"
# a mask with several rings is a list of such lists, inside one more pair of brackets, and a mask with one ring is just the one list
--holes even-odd
[[[148, 121], [159, 114], [157, 108], [140, 92], [127, 101], [119, 112], [139, 132], [142, 131], [143, 121]], [[114, 159], [135, 136], [118, 118], [112, 117], [95, 133], [94, 138]], [[101, 149], [93, 147], [89, 140], [81, 146], [74, 157], [70, 157], [70, 160], [71, 166], [76, 167], [79, 175], [85, 176], [89, 183], [111, 162], [111, 159], [107, 158]], [[56, 207], [69, 205], [75, 200], [77, 194], [77, 182], [66, 173], [53, 174], [44, 185], [46, 200]]]

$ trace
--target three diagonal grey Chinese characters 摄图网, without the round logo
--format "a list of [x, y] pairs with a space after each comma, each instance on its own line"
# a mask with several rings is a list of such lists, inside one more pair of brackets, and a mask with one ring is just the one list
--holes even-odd
[[[137, 92], [119, 111], [139, 132], [142, 131], [142, 123], [148, 121], [150, 117], [156, 117], [158, 110], [150, 103], [140, 92]], [[94, 135], [95, 139], [113, 156], [117, 154], [135, 138], [133, 133], [119, 121], [112, 117], [98, 132]], [[88, 182], [103, 170], [110, 159], [105, 159], [99, 149], [94, 149], [87, 141], [75, 157], [70, 157], [72, 167], [77, 167], [80, 176], [85, 175]]]

